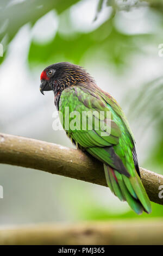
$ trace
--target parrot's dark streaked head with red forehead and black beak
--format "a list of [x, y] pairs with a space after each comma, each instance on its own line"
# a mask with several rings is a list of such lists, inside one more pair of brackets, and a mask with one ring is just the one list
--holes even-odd
[[55, 63], [45, 68], [40, 76], [40, 92], [53, 90], [54, 94], [79, 82], [91, 80], [91, 76], [80, 66], [68, 62]]

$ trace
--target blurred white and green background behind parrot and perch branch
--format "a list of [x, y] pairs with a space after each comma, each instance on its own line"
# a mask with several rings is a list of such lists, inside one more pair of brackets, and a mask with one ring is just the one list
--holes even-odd
[[[53, 93], [39, 91], [47, 65], [72, 62], [122, 106], [140, 166], [163, 174], [162, 13], [156, 0], [0, 0], [1, 132], [73, 147], [64, 131], [52, 129]], [[109, 188], [5, 164], [0, 185], [1, 225], [163, 214], [153, 203], [151, 215], [137, 216]]]

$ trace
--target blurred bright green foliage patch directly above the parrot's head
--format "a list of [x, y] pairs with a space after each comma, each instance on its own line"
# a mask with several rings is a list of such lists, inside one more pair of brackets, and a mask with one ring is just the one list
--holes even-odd
[[33, 41], [29, 50], [29, 64], [48, 64], [65, 60], [79, 64], [84, 54], [90, 51], [91, 58], [97, 58], [98, 53], [101, 59], [111, 62], [117, 69], [123, 70], [123, 68], [129, 67], [130, 54], [140, 50], [136, 43], [137, 40], [150, 40], [150, 35], [125, 35], [118, 32], [112, 23], [112, 19], [110, 19], [98, 27], [96, 31], [78, 32], [72, 38], [71, 35], [69, 38], [58, 31], [55, 38], [45, 45]]

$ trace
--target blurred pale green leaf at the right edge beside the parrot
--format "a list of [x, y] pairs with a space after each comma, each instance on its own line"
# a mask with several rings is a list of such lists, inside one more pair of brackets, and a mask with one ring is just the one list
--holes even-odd
[[[136, 95], [136, 97], [130, 97]], [[159, 173], [163, 173], [163, 76], [158, 77], [151, 82], [143, 84], [139, 91], [133, 90], [126, 97], [131, 100], [129, 115], [131, 120], [136, 120], [137, 127], [142, 125], [142, 136], [151, 126], [154, 129], [153, 147], [149, 152], [146, 162], [148, 166], [156, 169], [159, 167]]]

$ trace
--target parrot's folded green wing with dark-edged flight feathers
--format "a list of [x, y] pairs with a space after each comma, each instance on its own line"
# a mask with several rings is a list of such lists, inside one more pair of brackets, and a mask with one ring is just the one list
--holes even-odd
[[[69, 106], [70, 113], [74, 111], [80, 113], [80, 119], [78, 119], [79, 130], [72, 130], [70, 127], [67, 131], [68, 135], [103, 163], [109, 164], [112, 168], [130, 176], [120, 156], [115, 153], [112, 147], [119, 143], [121, 129], [114, 120], [114, 114], [110, 112], [108, 105], [101, 97], [83, 92], [78, 87], [70, 87], [64, 90], [60, 98], [59, 110], [63, 114], [63, 121], [65, 121], [66, 117], [64, 111], [66, 106]], [[87, 123], [86, 127], [84, 127], [85, 129], [82, 127], [82, 113], [84, 112], [92, 113], [91, 130], [89, 130], [90, 119], [88, 117], [86, 118]], [[110, 118], [109, 120], [107, 119], [107, 112]], [[68, 116], [67, 118], [69, 118], [71, 126], [73, 118]], [[108, 123], [109, 126], [107, 126]], [[62, 122], [62, 125], [65, 129], [64, 122]]]

